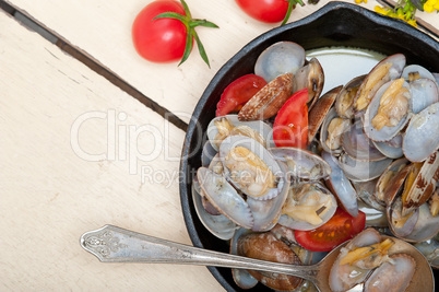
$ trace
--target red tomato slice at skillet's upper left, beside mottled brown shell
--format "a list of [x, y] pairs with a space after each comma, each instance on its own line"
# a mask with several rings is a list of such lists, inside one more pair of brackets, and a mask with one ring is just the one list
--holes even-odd
[[216, 116], [239, 112], [253, 95], [266, 85], [266, 81], [256, 74], [247, 74], [232, 82], [221, 95], [216, 105]]

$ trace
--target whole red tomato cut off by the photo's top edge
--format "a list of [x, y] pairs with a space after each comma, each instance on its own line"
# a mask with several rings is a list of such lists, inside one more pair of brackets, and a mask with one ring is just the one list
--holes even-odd
[[304, 5], [301, 0], [235, 0], [251, 17], [268, 23], [284, 21], [285, 24], [296, 3]]

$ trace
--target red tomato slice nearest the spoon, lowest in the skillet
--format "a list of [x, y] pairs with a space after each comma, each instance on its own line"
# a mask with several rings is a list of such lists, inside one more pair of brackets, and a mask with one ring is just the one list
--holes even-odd
[[294, 232], [297, 243], [312, 252], [330, 252], [340, 244], [360, 233], [366, 225], [366, 214], [358, 211], [356, 218], [337, 208], [334, 215], [323, 225], [310, 231]]

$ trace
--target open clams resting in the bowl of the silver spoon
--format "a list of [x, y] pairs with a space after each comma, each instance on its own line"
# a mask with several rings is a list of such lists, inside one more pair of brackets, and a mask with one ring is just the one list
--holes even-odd
[[431, 271], [418, 265], [419, 253], [406, 246], [411, 247], [366, 229], [341, 249], [330, 272], [331, 290], [346, 291], [364, 283], [365, 292], [405, 291], [413, 284], [415, 273], [420, 272], [418, 269], [431, 277]]

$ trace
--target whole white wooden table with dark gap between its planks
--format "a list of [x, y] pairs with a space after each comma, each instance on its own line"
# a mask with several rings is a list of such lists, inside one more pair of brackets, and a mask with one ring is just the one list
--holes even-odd
[[[154, 65], [130, 35], [149, 2], [7, 0], [15, 17], [0, 10], [0, 291], [223, 290], [204, 267], [102, 264], [79, 244], [105, 224], [190, 244], [178, 191], [181, 128], [215, 72], [276, 26], [233, 0], [187, 0], [192, 15], [221, 27], [199, 30], [211, 69], [195, 49], [181, 67]], [[290, 21], [327, 2], [294, 10]], [[439, 27], [437, 14], [418, 16]]]

